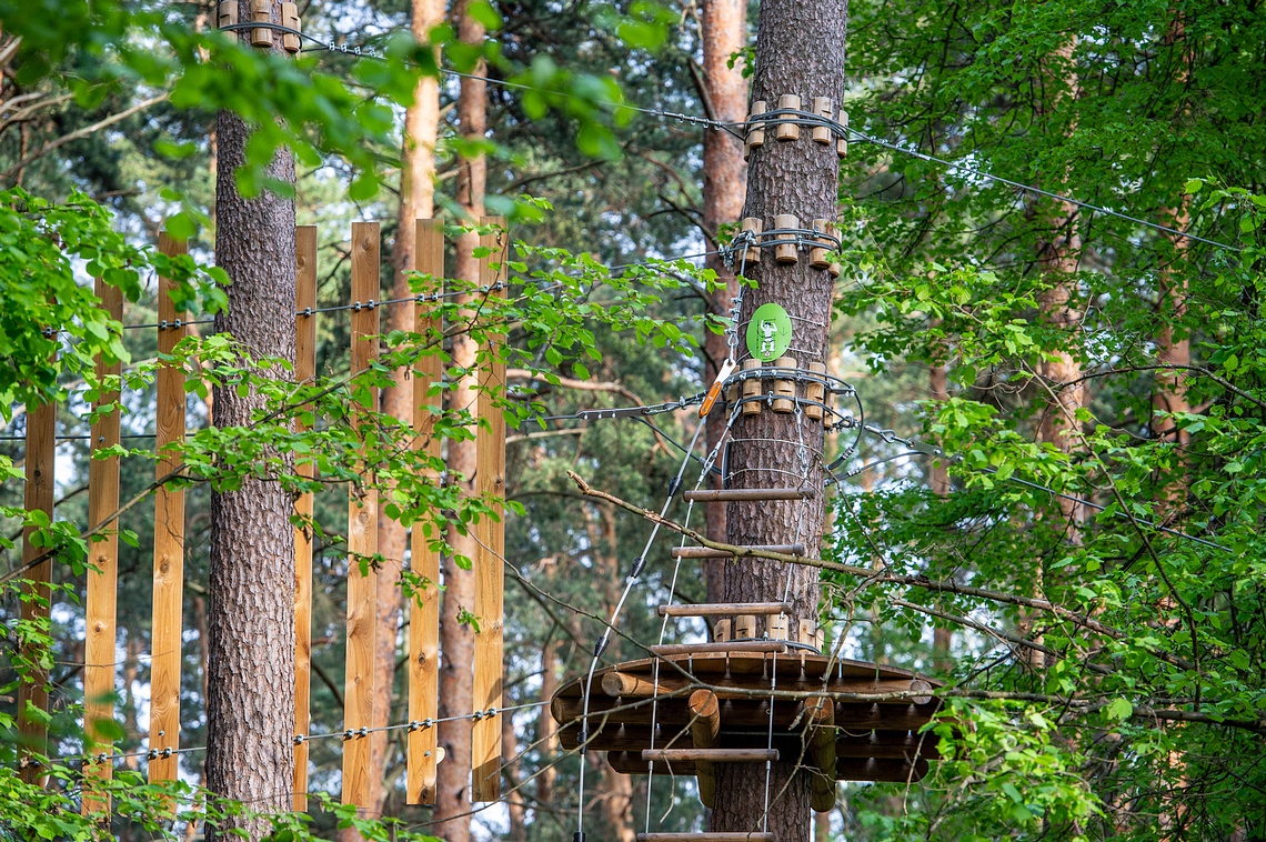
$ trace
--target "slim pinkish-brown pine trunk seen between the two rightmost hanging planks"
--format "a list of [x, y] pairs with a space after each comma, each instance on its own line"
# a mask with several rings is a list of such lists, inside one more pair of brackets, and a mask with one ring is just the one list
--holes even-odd
[[[458, 38], [470, 44], [484, 39], [484, 28], [466, 14], [463, 0], [457, 9]], [[484, 63], [476, 65], [473, 73], [484, 75]], [[487, 85], [477, 79], [463, 77], [457, 100], [457, 120], [461, 134], [466, 138], [482, 138], [487, 128]], [[467, 224], [476, 224], [484, 213], [484, 185], [487, 177], [487, 162], [482, 156], [462, 160], [457, 168], [457, 201], [466, 213]], [[479, 280], [479, 260], [475, 248], [479, 234], [467, 233], [457, 241], [454, 276], [466, 281]], [[461, 379], [452, 393], [452, 409], [476, 408], [479, 372], [475, 371], [475, 358], [479, 348], [468, 336], [453, 337], [453, 363], [470, 374]], [[461, 475], [462, 490], [475, 494], [475, 439], [449, 442], [448, 472], [453, 477]], [[449, 531], [448, 541], [457, 555], [475, 557], [472, 534], [462, 536], [456, 529]], [[475, 679], [471, 665], [475, 660], [475, 633], [457, 619], [462, 610], [475, 610], [475, 577], [470, 570], [462, 570], [452, 557], [444, 558], [444, 603], [439, 620], [439, 715], [454, 717], [468, 714], [475, 707]], [[439, 728], [439, 745], [447, 757], [439, 763], [436, 791], [434, 833], [448, 842], [467, 842], [470, 839], [470, 774], [471, 774], [471, 722], [460, 719], [446, 722]]]

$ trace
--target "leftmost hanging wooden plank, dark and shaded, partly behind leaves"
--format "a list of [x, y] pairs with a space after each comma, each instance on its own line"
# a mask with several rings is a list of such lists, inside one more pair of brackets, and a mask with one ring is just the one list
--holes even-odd
[[[27, 408], [27, 487], [24, 505], [27, 512], [43, 512], [53, 519], [53, 463], [56, 461], [56, 423], [57, 404], [39, 404]], [[22, 533], [23, 565], [32, 563], [43, 552], [34, 542], [34, 527], [27, 527]], [[29, 584], [23, 588], [25, 594], [38, 599], [23, 599], [20, 617], [24, 623], [46, 623], [49, 615], [48, 588], [53, 572], [52, 557], [34, 565], [24, 575]], [[28, 717], [28, 705], [38, 710], [48, 710], [48, 672], [39, 669], [41, 653], [35, 647], [23, 644], [23, 661], [32, 670], [27, 680], [18, 685], [18, 734], [22, 742], [22, 779], [35, 781], [44, 775], [39, 758], [48, 753], [48, 728], [38, 717]]]

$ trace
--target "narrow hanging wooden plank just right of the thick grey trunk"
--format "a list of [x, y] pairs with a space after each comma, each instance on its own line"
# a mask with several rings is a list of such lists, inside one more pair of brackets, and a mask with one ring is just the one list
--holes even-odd
[[[316, 306], [316, 227], [295, 229], [295, 380], [308, 384], [316, 376], [316, 315], [304, 314]], [[306, 429], [303, 422], [296, 424]], [[299, 475], [315, 476], [313, 465], [300, 465]], [[295, 512], [303, 518], [313, 513], [313, 495], [300, 494]], [[295, 528], [295, 733], [306, 734], [311, 723], [313, 656], [313, 536], [306, 527]], [[308, 809], [308, 742], [295, 746], [294, 809]]]

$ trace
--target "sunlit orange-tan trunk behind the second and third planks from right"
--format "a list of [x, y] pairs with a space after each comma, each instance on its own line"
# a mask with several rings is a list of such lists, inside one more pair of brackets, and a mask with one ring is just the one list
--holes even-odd
[[[419, 43], [425, 42], [433, 28], [444, 20], [442, 0], [414, 0], [413, 37]], [[396, 241], [392, 253], [395, 275], [391, 285], [391, 298], [404, 299], [411, 295], [409, 272], [417, 266], [417, 225], [418, 219], [429, 219], [434, 214], [434, 171], [436, 141], [439, 134], [439, 82], [434, 76], [423, 76], [414, 87], [413, 105], [405, 110], [404, 137], [401, 142], [400, 163], [400, 211], [396, 225]], [[414, 310], [411, 306], [387, 308], [387, 332], [414, 329]], [[413, 381], [405, 368], [391, 374], [391, 385], [382, 390], [382, 412], [403, 422], [413, 422]], [[377, 676], [373, 682], [373, 727], [390, 724], [391, 696], [395, 689], [396, 642], [400, 629], [401, 591], [399, 590], [400, 570], [404, 566], [404, 552], [408, 544], [406, 529], [379, 509], [379, 552], [384, 563], [377, 577], [377, 634], [373, 655], [373, 669]], [[370, 769], [386, 769], [387, 734], [377, 731], [370, 734]], [[387, 786], [391, 781], [382, 775], [370, 777], [370, 815], [381, 815], [386, 801]], [[354, 832], [354, 831], [353, 831]]]

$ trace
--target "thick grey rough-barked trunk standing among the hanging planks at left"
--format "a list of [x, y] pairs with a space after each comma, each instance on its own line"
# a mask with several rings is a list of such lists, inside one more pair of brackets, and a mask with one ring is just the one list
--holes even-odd
[[[249, 20], [249, 4], [239, 3]], [[281, 4], [272, 20], [281, 23]], [[280, 39], [279, 39], [280, 42]], [[279, 44], [280, 49], [280, 44]], [[251, 129], [235, 114], [216, 120], [216, 262], [233, 284], [215, 329], [228, 332], [251, 357], [295, 358], [295, 204], [270, 192], [244, 200], [234, 171], [244, 161]], [[282, 149], [272, 179], [295, 184], [295, 161]], [[275, 370], [271, 376], [289, 375]], [[216, 427], [251, 423], [263, 405], [253, 391], [215, 390]], [[211, 494], [208, 600], [206, 785], [252, 810], [290, 809], [294, 779], [295, 536], [294, 501], [276, 482], [247, 480], [235, 491]], [[251, 839], [267, 820], [234, 819]], [[209, 839], [229, 827], [208, 828]]]

